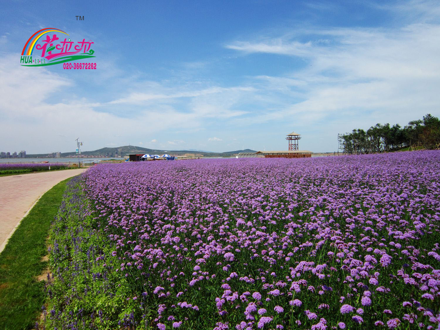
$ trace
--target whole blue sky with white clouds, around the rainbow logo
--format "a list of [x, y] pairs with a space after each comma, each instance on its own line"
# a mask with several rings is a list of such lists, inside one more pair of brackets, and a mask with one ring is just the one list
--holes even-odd
[[[337, 134], [439, 116], [438, 1], [3, 1], [0, 151], [337, 149]], [[76, 15], [84, 16], [79, 21]], [[37, 30], [97, 70], [22, 67]]]

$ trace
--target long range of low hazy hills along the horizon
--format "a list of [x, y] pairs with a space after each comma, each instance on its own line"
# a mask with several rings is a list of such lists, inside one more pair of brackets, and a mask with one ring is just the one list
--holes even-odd
[[[81, 150], [82, 157], [124, 157], [127, 154], [171, 154], [174, 156], [182, 156], [185, 154], [194, 155], [195, 157], [226, 157], [229, 155], [235, 155], [240, 152], [255, 152], [251, 149], [245, 150], [235, 150], [235, 151], [225, 151], [225, 152], [212, 152], [205, 150], [160, 150], [160, 149], [150, 149], [137, 146], [121, 146], [121, 147], [105, 147], [97, 150], [83, 151]], [[26, 158], [44, 158], [48, 157], [48, 154], [26, 154]], [[60, 153], [61, 158], [71, 158], [76, 156], [75, 151], [72, 152], [62, 152]], [[49, 156], [50, 157], [50, 156]]]

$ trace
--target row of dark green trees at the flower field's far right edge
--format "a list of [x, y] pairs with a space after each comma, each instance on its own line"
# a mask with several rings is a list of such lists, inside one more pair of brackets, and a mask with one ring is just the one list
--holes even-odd
[[423, 119], [410, 121], [404, 127], [399, 124], [376, 124], [367, 131], [353, 129], [351, 133], [338, 134], [337, 140], [338, 150], [344, 154], [373, 154], [403, 148], [438, 149], [440, 120], [427, 114]]

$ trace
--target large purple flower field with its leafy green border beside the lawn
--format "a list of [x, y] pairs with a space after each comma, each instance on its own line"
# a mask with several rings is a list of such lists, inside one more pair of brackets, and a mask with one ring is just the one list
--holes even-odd
[[439, 329], [440, 152], [102, 164], [51, 233], [57, 329]]

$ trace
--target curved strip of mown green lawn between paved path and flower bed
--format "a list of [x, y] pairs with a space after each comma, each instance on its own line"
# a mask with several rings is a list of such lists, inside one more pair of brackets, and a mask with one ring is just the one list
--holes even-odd
[[44, 281], [36, 277], [48, 267], [46, 239], [61, 204], [67, 181], [46, 192], [22, 220], [0, 254], [0, 329], [29, 329], [44, 304]]

